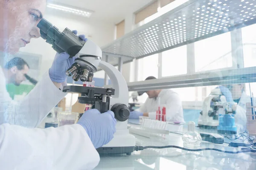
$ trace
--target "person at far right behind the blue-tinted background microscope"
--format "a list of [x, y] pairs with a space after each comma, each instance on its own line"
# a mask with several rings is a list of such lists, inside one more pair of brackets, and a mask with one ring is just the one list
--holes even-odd
[[244, 84], [233, 84], [219, 86], [221, 93], [226, 97], [227, 102], [236, 102], [236, 115], [235, 122], [237, 130], [240, 130], [240, 133], [246, 130], [246, 103], [250, 103], [250, 96], [248, 96], [244, 91]]

